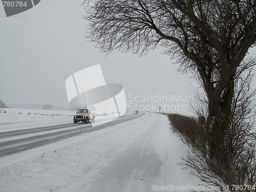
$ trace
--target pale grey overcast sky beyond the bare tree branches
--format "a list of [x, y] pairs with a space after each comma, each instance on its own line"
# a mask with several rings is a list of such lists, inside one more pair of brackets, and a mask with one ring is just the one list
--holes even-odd
[[81, 19], [79, 3], [81, 0], [41, 0], [34, 8], [10, 17], [1, 4], [3, 102], [68, 106], [66, 79], [97, 64], [101, 64], [106, 83], [123, 85], [128, 101], [157, 94], [188, 96], [190, 83], [195, 82], [177, 73], [178, 66], [160, 51], [142, 57], [115, 51], [105, 57], [94, 48], [83, 36], [86, 20]]

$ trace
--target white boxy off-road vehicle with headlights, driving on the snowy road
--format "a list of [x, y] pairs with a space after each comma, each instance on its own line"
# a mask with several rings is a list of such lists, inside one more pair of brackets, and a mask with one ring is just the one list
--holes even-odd
[[73, 120], [74, 123], [82, 121], [87, 124], [89, 123], [89, 120], [91, 120], [93, 123], [95, 121], [95, 113], [91, 113], [91, 110], [89, 109], [78, 109], [76, 115], [74, 115]]

